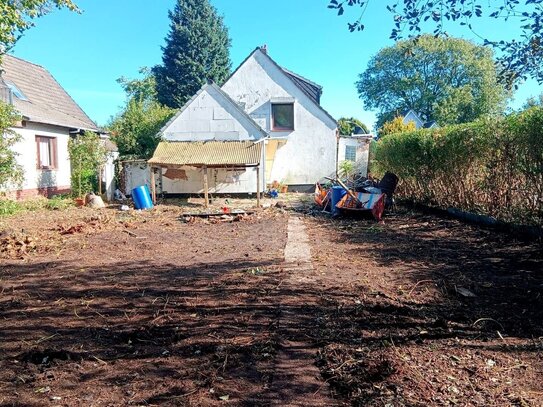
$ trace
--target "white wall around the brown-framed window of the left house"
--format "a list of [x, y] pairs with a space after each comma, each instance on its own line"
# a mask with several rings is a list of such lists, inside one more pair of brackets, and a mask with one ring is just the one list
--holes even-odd
[[[67, 128], [49, 126], [41, 123], [27, 122], [26, 127], [14, 128], [22, 136], [21, 142], [14, 146], [14, 151], [19, 154], [17, 161], [24, 170], [23, 190], [31, 190], [45, 187], [70, 187], [70, 159], [68, 155], [68, 139], [70, 137]], [[54, 170], [37, 169], [36, 136], [55, 137], [57, 139], [57, 164]]]

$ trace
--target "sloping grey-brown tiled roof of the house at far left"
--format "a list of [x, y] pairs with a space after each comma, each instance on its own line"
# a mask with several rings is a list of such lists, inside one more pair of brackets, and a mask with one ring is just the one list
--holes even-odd
[[2, 78], [12, 90], [13, 106], [32, 122], [98, 130], [89, 116], [42, 66], [3, 55]]

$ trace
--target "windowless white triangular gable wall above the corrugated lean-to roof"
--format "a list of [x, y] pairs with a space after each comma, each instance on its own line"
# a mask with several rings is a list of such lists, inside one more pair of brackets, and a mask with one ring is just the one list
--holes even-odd
[[257, 127], [213, 86], [206, 86], [166, 126], [169, 141], [235, 141], [263, 137]]

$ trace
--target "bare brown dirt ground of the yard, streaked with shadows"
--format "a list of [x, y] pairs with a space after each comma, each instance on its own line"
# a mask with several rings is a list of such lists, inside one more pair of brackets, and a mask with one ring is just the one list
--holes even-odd
[[0, 219], [0, 406], [543, 405], [541, 246], [408, 211], [180, 214]]

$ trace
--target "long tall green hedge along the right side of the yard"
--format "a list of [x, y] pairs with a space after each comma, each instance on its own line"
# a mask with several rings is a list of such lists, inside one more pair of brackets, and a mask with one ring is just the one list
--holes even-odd
[[386, 136], [373, 170], [397, 174], [398, 194], [415, 202], [542, 226], [543, 108]]

